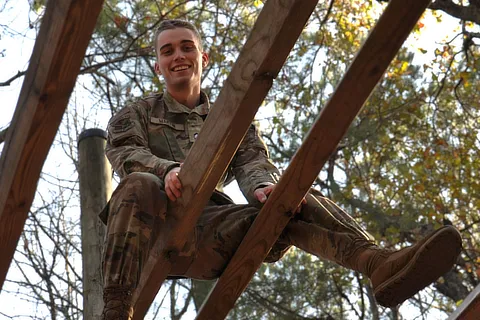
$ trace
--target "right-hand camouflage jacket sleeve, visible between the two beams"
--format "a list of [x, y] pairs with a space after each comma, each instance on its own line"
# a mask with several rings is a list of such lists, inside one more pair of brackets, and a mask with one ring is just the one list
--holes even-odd
[[238, 186], [249, 203], [258, 203], [255, 189], [278, 182], [280, 172], [270, 161], [258, 129], [251, 125], [231, 163]]

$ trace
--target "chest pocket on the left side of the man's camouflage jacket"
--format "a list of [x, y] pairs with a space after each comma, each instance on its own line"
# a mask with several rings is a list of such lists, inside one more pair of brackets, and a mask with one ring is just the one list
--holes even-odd
[[157, 157], [183, 162], [185, 155], [177, 141], [177, 137], [182, 134], [185, 134], [185, 125], [172, 123], [165, 119], [150, 118], [149, 147]]

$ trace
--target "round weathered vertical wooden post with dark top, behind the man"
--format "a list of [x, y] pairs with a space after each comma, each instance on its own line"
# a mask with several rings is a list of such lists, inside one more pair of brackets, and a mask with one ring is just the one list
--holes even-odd
[[98, 214], [112, 194], [112, 169], [105, 157], [107, 133], [89, 129], [78, 138], [83, 256], [83, 318], [100, 319], [103, 310], [102, 248], [105, 226]]

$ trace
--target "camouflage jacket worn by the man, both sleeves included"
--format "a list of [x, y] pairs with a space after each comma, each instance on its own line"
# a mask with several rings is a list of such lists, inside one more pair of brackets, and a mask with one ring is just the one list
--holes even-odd
[[[108, 123], [106, 154], [113, 169], [121, 178], [132, 172], [149, 172], [163, 180], [187, 157], [209, 108], [203, 92], [200, 105], [192, 110], [168, 93], [151, 95], [123, 108]], [[256, 203], [255, 189], [278, 181], [279, 172], [254, 125], [217, 189], [232, 176], [249, 203]]]

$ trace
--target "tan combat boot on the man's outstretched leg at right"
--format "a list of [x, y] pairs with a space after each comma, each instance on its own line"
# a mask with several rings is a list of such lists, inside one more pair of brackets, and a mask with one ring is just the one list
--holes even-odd
[[462, 250], [460, 233], [452, 226], [442, 227], [414, 246], [395, 252], [378, 250], [367, 274], [377, 302], [395, 307], [409, 299], [455, 264]]

